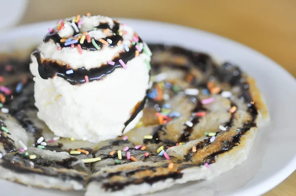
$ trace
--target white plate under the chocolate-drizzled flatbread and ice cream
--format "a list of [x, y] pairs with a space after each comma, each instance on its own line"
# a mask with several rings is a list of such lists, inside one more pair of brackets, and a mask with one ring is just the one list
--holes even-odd
[[[213, 55], [220, 61], [239, 65], [258, 83], [269, 108], [271, 122], [259, 129], [248, 160], [218, 178], [177, 185], [154, 196], [195, 195], [261, 195], [272, 189], [296, 169], [296, 81], [285, 69], [259, 52], [232, 40], [203, 31], [153, 21], [121, 19], [134, 27], [148, 43], [176, 44]], [[18, 27], [0, 33], [0, 43], [9, 48], [37, 44], [55, 22], [43, 22]], [[11, 43], [11, 40], [16, 40]], [[20, 41], [17, 41], [20, 40]], [[3, 49], [3, 47], [1, 47]], [[7, 49], [7, 47], [5, 47]], [[55, 190], [28, 188], [0, 180], [0, 195], [83, 195]], [[5, 189], [3, 189], [5, 187]]]

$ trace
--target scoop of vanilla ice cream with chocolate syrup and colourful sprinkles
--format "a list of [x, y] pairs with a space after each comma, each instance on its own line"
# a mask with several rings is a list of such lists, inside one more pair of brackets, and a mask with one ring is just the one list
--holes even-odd
[[[139, 105], [143, 106], [149, 89], [151, 53], [132, 28], [111, 18], [81, 16], [79, 21], [72, 20], [75, 18], [60, 21], [60, 28], [54, 28], [49, 39], [44, 38], [38, 47], [38, 55], [31, 55], [37, 116], [61, 137], [99, 142], [121, 136], [143, 116]], [[83, 32], [88, 32], [89, 40], [94, 39], [99, 50]], [[65, 39], [71, 36], [78, 42], [66, 46]], [[100, 40], [104, 44], [99, 45]], [[110, 71], [112, 66], [116, 68]], [[109, 69], [104, 72], [106, 67]], [[92, 77], [96, 71], [105, 75]], [[44, 73], [52, 75], [45, 78]]]

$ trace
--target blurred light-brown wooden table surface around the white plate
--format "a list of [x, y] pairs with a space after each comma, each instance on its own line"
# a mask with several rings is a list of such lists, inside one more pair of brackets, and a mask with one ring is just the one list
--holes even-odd
[[[296, 0], [30, 0], [20, 24], [90, 12], [176, 23], [254, 48], [296, 76]], [[264, 196], [296, 195], [296, 172]]]

